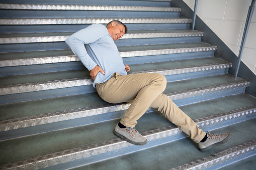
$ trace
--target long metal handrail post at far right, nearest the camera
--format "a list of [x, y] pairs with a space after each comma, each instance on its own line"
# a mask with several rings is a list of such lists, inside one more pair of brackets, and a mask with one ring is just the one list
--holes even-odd
[[245, 40], [246, 40], [246, 37], [247, 37], [247, 33], [248, 33], [248, 30], [249, 30], [249, 26], [250, 26], [250, 21], [251, 21], [253, 10], [254, 10], [254, 4], [255, 4], [255, 0], [252, 0], [251, 5], [250, 5], [249, 10], [248, 10], [245, 26], [244, 26], [242, 42], [241, 42], [239, 55], [238, 55], [238, 62], [237, 62], [236, 68], [235, 68], [235, 74], [234, 74], [235, 79], [237, 78], [237, 74], [238, 74], [238, 70], [239, 70], [239, 66], [240, 66], [240, 62], [241, 62], [241, 58], [242, 58], [242, 52], [243, 52]]

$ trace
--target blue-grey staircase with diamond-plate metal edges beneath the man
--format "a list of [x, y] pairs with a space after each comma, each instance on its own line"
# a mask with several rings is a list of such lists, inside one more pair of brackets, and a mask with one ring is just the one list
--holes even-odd
[[[172, 0], [1, 1], [1, 169], [254, 169], [256, 98], [247, 80], [228, 74], [191, 19]], [[164, 91], [200, 128], [231, 132], [205, 152], [149, 108], [136, 129], [148, 143], [113, 134], [128, 103], [103, 101], [89, 71], [65, 44], [74, 32], [117, 19], [116, 41], [129, 74], [160, 73]]]

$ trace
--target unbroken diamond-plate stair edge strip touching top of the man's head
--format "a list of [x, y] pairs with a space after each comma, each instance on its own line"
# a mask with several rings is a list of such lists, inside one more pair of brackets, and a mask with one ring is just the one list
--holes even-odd
[[191, 23], [188, 18], [70, 18], [70, 19], [0, 19], [0, 25], [108, 24], [119, 20], [124, 24]]

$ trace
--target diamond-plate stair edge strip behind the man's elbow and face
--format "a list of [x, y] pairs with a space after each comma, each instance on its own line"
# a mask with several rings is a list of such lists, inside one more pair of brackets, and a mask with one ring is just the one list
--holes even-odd
[[[199, 37], [199, 36], [203, 36], [203, 32], [125, 34], [122, 37], [122, 39], [167, 38], [167, 37]], [[0, 44], [64, 42], [67, 39], [67, 37], [69, 37], [69, 36], [7, 37], [7, 38], [0, 38]]]

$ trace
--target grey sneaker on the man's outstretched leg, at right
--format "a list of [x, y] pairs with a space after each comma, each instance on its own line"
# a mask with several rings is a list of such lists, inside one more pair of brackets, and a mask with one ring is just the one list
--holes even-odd
[[207, 137], [208, 138], [206, 139], [206, 141], [198, 143], [199, 149], [201, 151], [205, 151], [214, 146], [218, 146], [223, 143], [226, 143], [230, 139], [231, 133], [227, 132], [227, 133], [218, 135], [218, 134], [210, 134], [210, 132], [207, 132]]

